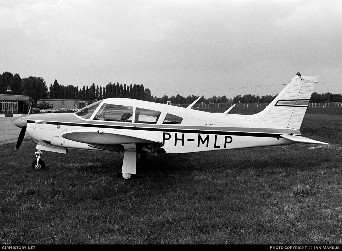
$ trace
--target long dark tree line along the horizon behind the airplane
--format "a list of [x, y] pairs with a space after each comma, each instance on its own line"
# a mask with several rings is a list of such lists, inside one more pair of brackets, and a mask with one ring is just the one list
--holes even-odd
[[[199, 96], [188, 95], [183, 97], [180, 94], [176, 96], [172, 95], [168, 97], [167, 95], [161, 98], [153, 97], [148, 88], [144, 88], [142, 84], [119, 84], [111, 83], [107, 84], [105, 87], [98, 86], [92, 83], [90, 86], [83, 85], [82, 88], [73, 85], [60, 85], [57, 80], [48, 87], [45, 80], [41, 77], [29, 76], [28, 78], [21, 78], [18, 73], [14, 75], [11, 72], [4, 72], [0, 74], [0, 94], [6, 94], [7, 86], [11, 86], [13, 95], [27, 95], [30, 98], [35, 98], [35, 103], [38, 99], [88, 99], [88, 100], [101, 100], [105, 98], [132, 98], [145, 100], [157, 103], [192, 103]], [[232, 99], [228, 99], [225, 95], [223, 96], [212, 96], [206, 99], [203, 95], [199, 99], [198, 103], [271, 103], [271, 101], [277, 95], [265, 95], [265, 96], [255, 96], [255, 95], [238, 95]], [[320, 102], [342, 102], [341, 94], [318, 94], [314, 92], [311, 95], [310, 102], [320, 103]]]

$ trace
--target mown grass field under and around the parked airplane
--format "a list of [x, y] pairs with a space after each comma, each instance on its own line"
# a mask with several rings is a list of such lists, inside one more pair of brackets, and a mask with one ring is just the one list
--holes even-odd
[[302, 135], [322, 148], [160, 154], [130, 180], [117, 153], [45, 152], [37, 171], [32, 140], [0, 145], [0, 243], [342, 244], [341, 117], [307, 109]]

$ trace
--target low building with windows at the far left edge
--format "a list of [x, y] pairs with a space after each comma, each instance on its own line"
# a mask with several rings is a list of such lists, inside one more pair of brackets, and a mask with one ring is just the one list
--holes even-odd
[[28, 96], [0, 94], [0, 114], [23, 114], [28, 113]]

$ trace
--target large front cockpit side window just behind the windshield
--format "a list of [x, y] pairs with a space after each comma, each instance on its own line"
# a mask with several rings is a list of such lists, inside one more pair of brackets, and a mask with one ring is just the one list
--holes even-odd
[[118, 104], [103, 104], [94, 120], [132, 122], [133, 107]]

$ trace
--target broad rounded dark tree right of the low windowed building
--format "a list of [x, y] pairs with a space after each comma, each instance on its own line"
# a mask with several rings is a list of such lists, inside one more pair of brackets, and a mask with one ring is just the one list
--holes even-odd
[[20, 89], [23, 95], [35, 97], [36, 103], [38, 99], [47, 98], [48, 87], [43, 78], [37, 78], [36, 76], [24, 78], [22, 79]]

